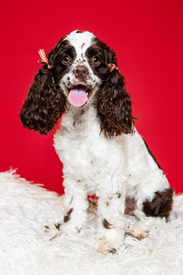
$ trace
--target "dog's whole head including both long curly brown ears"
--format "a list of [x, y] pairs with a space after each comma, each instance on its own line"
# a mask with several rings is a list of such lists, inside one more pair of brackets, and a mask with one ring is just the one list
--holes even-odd
[[73, 105], [91, 104], [106, 138], [132, 133], [131, 98], [117, 66], [115, 53], [90, 32], [73, 31], [48, 54], [48, 64], [35, 76], [21, 110], [24, 127], [47, 134]]

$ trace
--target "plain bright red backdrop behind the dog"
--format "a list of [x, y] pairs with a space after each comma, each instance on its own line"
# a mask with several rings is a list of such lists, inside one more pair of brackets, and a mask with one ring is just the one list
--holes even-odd
[[[23, 99], [48, 53], [74, 29], [88, 30], [117, 52], [137, 130], [171, 186], [182, 187], [182, 1], [5, 1], [1, 9], [1, 171], [63, 193], [62, 164], [43, 137], [19, 120]], [[44, 6], [42, 6], [44, 5]]]

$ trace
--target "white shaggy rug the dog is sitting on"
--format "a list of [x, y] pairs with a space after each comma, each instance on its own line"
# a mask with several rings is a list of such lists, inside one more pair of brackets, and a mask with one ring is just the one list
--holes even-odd
[[63, 218], [62, 200], [15, 170], [0, 173], [0, 274], [183, 274], [183, 195], [175, 197], [176, 214], [164, 229], [141, 241], [126, 236], [115, 255], [93, 249], [95, 213], [77, 235], [49, 240], [44, 226]]

